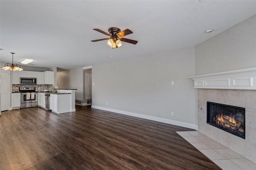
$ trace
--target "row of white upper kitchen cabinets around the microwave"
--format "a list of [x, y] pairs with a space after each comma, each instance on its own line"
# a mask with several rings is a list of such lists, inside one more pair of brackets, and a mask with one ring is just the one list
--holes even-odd
[[36, 78], [36, 84], [53, 84], [53, 71], [12, 71], [12, 84], [20, 84], [20, 77]]

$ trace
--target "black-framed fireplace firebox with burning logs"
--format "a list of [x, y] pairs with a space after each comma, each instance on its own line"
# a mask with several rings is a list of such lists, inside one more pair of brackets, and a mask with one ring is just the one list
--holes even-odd
[[207, 102], [207, 123], [245, 139], [245, 108]]

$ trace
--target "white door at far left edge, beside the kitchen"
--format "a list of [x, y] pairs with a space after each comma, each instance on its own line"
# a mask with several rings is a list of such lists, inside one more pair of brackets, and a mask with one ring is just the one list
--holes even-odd
[[1, 70], [1, 111], [8, 110], [10, 103], [10, 71]]

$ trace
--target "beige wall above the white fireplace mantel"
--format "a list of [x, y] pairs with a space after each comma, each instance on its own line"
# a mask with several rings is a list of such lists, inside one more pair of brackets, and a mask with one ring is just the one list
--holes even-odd
[[256, 15], [196, 45], [196, 75], [256, 67]]

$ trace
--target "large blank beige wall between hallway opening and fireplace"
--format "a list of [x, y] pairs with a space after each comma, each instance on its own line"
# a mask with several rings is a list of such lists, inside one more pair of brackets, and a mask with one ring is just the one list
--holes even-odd
[[187, 78], [194, 75], [194, 53], [191, 47], [93, 65], [93, 107], [197, 125], [196, 90]]

